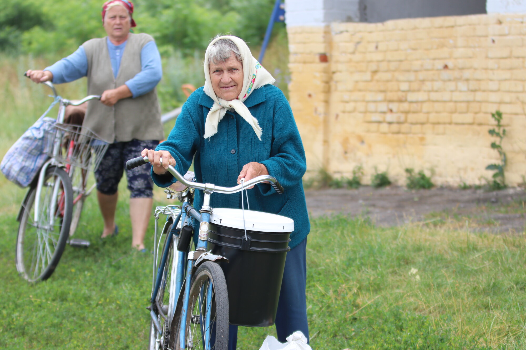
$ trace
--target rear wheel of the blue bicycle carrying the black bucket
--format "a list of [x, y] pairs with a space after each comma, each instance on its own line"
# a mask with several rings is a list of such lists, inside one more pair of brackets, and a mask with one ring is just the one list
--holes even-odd
[[[163, 249], [160, 250], [161, 254], [162, 252], [164, 252], [166, 244], [168, 244], [168, 237], [171, 234], [171, 227], [172, 225], [169, 225], [168, 229], [163, 232], [165, 235], [165, 240], [163, 243]], [[177, 246], [177, 236], [173, 235], [171, 237], [172, 239], [169, 241], [170, 248], [168, 250], [168, 258], [163, 269], [163, 278], [161, 280], [161, 284], [159, 286], [159, 291], [157, 293], [156, 298], [156, 305], [158, 308], [160, 308], [160, 311], [163, 312], [164, 315], [163, 316], [157, 313], [157, 321], [161, 326], [162, 334], [159, 336], [158, 333], [155, 332], [155, 327], [152, 322], [150, 326], [150, 349], [155, 348], [155, 343], [157, 341], [160, 342], [161, 349], [168, 349], [170, 320], [173, 319], [175, 311], [176, 294], [178, 294], [174, 290], [177, 274], [177, 258], [179, 252], [177, 252], [177, 250], [174, 249], [174, 247]], [[158, 260], [160, 261], [160, 258]], [[156, 271], [157, 270], [158, 269], [156, 269]], [[151, 327], [154, 327], [153, 331]]]

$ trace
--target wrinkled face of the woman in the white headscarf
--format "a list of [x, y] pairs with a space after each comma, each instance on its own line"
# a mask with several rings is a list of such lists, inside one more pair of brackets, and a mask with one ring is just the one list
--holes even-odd
[[243, 64], [234, 53], [225, 62], [210, 60], [208, 69], [217, 97], [231, 101], [239, 96], [243, 88]]

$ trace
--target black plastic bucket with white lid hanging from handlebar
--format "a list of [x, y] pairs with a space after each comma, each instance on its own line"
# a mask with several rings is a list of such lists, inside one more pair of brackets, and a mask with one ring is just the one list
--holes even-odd
[[294, 221], [245, 210], [245, 225], [247, 239], [240, 209], [215, 208], [210, 217], [208, 249], [229, 260], [219, 264], [228, 287], [230, 324], [268, 327], [276, 320]]

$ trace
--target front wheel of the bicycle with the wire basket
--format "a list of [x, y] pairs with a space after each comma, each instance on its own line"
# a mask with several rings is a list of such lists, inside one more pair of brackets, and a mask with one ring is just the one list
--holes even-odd
[[73, 210], [71, 181], [62, 168], [47, 168], [39, 193], [38, 222], [34, 222], [37, 192], [34, 184], [22, 203], [16, 239], [16, 268], [29, 282], [47, 280], [55, 271], [69, 236]]

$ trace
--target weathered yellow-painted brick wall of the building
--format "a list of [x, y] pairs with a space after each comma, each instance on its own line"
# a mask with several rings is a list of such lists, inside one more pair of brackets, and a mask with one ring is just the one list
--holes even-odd
[[[526, 16], [472, 15], [288, 28], [290, 104], [310, 173], [433, 169], [478, 184], [498, 161], [491, 112], [508, 131], [507, 182], [526, 175]], [[323, 55], [328, 61], [323, 62]]]

